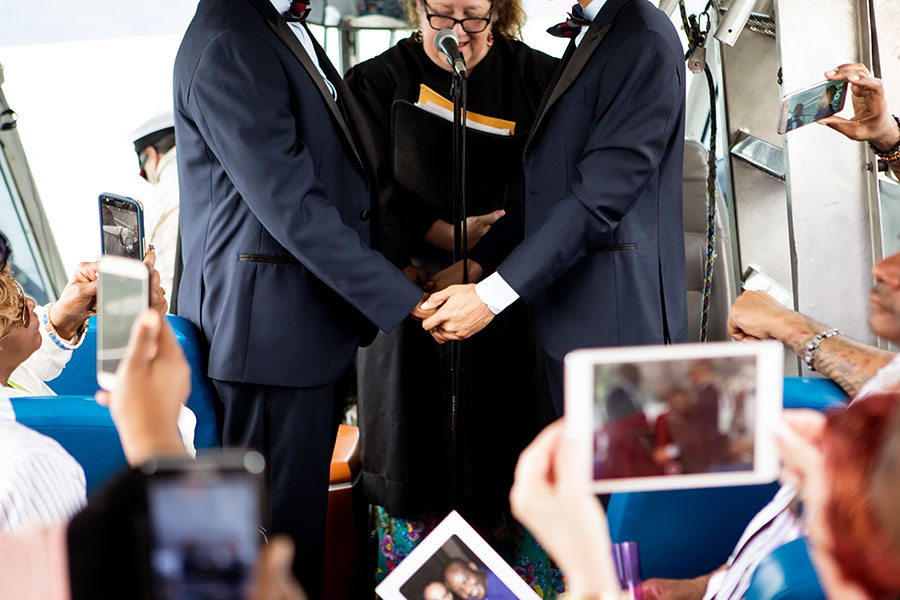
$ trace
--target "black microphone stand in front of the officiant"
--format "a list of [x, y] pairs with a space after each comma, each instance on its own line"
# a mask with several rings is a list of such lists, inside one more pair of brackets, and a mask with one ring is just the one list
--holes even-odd
[[[454, 69], [450, 86], [453, 96], [453, 263], [462, 260], [463, 283], [469, 282], [469, 244], [466, 226], [466, 77]], [[457, 508], [459, 467], [457, 465], [457, 423], [463, 400], [463, 349], [461, 341], [450, 342], [450, 470], [451, 505]]]

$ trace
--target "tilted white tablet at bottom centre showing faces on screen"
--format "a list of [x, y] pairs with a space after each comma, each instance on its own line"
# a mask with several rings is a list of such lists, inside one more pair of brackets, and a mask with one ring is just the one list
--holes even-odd
[[456, 511], [385, 577], [375, 593], [385, 600], [538, 600]]

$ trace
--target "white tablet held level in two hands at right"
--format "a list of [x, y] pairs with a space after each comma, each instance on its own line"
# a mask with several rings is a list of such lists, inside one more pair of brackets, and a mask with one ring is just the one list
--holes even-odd
[[566, 427], [597, 493], [769, 483], [779, 474], [780, 343], [578, 350]]

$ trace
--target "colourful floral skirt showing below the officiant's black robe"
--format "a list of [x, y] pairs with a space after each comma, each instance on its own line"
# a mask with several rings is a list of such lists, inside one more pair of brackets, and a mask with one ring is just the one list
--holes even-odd
[[[418, 519], [401, 519], [390, 515], [380, 506], [375, 507], [375, 517], [378, 534], [376, 583], [387, 577], [443, 520], [431, 511]], [[538, 596], [549, 600], [565, 591], [562, 573], [550, 561], [537, 540], [509, 513], [500, 513], [488, 529], [475, 529]]]

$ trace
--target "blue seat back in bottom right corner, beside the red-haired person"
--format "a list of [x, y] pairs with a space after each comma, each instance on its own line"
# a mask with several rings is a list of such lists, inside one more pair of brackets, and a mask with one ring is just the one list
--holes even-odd
[[788, 542], [759, 563], [746, 599], [825, 600], [805, 538]]

